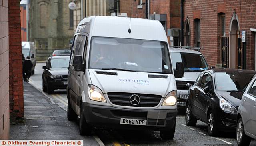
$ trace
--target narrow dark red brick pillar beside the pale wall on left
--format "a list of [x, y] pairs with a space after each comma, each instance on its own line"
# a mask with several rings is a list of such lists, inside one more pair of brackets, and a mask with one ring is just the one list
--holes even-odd
[[9, 0], [9, 89], [10, 120], [23, 122], [20, 0]]

